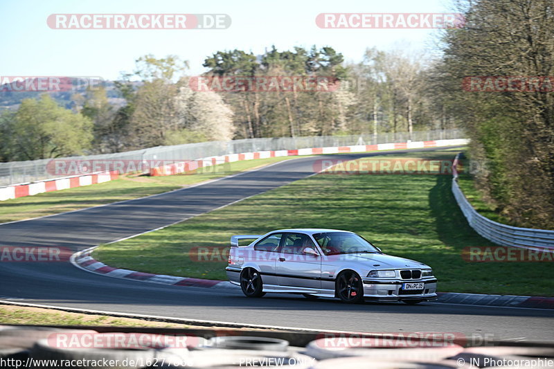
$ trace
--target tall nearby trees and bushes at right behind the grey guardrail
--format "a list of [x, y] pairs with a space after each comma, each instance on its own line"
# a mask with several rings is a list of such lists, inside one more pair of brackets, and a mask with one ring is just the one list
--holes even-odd
[[515, 224], [554, 228], [554, 96], [552, 92], [463, 91], [470, 76], [554, 74], [550, 0], [463, 0], [465, 28], [444, 35], [437, 73], [456, 118], [472, 138], [470, 154], [488, 163], [476, 176], [490, 203]]

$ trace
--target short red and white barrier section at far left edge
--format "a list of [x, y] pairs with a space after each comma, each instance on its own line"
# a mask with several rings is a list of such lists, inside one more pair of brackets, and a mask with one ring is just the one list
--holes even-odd
[[42, 192], [52, 192], [57, 190], [66, 190], [89, 186], [95, 183], [103, 183], [117, 179], [118, 172], [101, 172], [85, 174], [82, 176], [71, 176], [57, 179], [47, 179], [46, 181], [37, 181], [33, 183], [19, 183], [12, 186], [0, 187], [0, 201], [17, 199], [18, 197], [37, 195]]

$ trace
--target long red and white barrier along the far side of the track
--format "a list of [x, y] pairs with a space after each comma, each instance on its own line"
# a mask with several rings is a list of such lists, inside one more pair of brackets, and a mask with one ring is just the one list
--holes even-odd
[[371, 152], [371, 151], [382, 151], [382, 150], [419, 149], [423, 147], [465, 145], [466, 143], [467, 143], [467, 139], [461, 138], [461, 139], [454, 139], [454, 140], [379, 143], [377, 145], [309, 147], [309, 148], [298, 149], [298, 150], [265, 150], [265, 151], [256, 151], [256, 152], [242, 152], [240, 154], [211, 156], [208, 158], [195, 160], [195, 161], [183, 161], [179, 163], [163, 165], [158, 168], [152, 168], [152, 170], [150, 171], [150, 175], [169, 176], [172, 174], [184, 173], [190, 170], [195, 170], [197, 168], [203, 168], [210, 165], [232, 163], [233, 161], [243, 161], [243, 160], [251, 160], [251, 159], [274, 158], [278, 156], [340, 154], [340, 153], [346, 153], [346, 152]]

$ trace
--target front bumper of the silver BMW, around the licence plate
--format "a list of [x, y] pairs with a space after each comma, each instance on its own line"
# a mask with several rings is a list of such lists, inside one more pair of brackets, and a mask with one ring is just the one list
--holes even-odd
[[[397, 279], [379, 279], [361, 278], [364, 282], [364, 298], [377, 301], [401, 301], [401, 300], [421, 300], [431, 301], [437, 299], [437, 280], [435, 278], [426, 278], [420, 280], [397, 280]], [[419, 290], [405, 290], [404, 283], [422, 282], [424, 287]]]

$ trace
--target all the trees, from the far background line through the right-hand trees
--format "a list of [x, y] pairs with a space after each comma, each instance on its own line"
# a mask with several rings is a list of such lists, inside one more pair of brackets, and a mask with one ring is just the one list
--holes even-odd
[[[485, 200], [514, 224], [554, 228], [553, 91], [467, 89], [471, 76], [552, 76], [551, 0], [458, 0], [465, 26], [443, 30], [440, 55], [368, 48], [345, 62], [330, 46], [217, 51], [206, 78], [325, 78], [332, 91], [197, 91], [188, 63], [145, 55], [105, 89], [48, 95], [0, 115], [0, 161], [123, 152], [237, 138], [465, 128]], [[111, 92], [111, 91], [108, 91]]]

